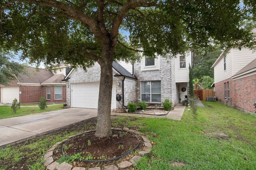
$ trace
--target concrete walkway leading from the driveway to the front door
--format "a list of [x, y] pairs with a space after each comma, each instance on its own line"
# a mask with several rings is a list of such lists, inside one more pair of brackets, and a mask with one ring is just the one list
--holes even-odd
[[132, 116], [132, 117], [147, 117], [147, 118], [169, 118], [174, 120], [181, 120], [181, 117], [184, 113], [186, 106], [182, 104], [178, 104], [174, 107], [172, 111], [170, 111], [166, 116], [158, 116], [158, 115], [142, 115], [142, 114], [134, 114], [134, 113], [114, 113], [111, 112], [111, 115], [117, 116]]

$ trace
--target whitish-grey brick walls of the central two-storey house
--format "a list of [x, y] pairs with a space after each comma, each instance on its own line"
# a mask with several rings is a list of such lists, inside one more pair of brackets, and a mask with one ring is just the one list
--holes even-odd
[[[113, 75], [116, 73], [113, 71]], [[175, 106], [178, 103], [178, 87], [175, 82], [175, 59], [167, 61], [164, 57], [160, 57], [160, 70], [141, 71], [141, 62], [134, 64], [134, 75], [138, 77], [138, 80], [130, 80], [126, 77], [124, 81], [124, 105], [130, 101], [140, 100], [140, 86], [141, 81], [161, 81], [161, 105], [164, 99], [170, 99]], [[116, 81], [116, 94], [122, 95], [122, 79], [123, 77], [113, 77], [113, 81]], [[89, 83], [100, 81], [100, 66], [96, 63], [94, 66], [87, 69], [85, 72], [82, 68], [78, 67], [74, 70], [74, 73], [67, 81], [66, 103], [71, 105], [71, 86], [73, 83]], [[118, 83], [120, 85], [118, 86]], [[155, 104], [154, 104], [155, 105]], [[122, 100], [116, 101], [116, 108], [122, 108]]]

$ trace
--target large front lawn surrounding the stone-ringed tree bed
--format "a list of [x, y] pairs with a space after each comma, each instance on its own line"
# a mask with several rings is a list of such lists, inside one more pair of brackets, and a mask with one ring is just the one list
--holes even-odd
[[[150, 158], [143, 157], [135, 169], [256, 169], [256, 117], [218, 102], [203, 104], [204, 108], [198, 107], [196, 120], [187, 109], [181, 121], [112, 118], [112, 127], [140, 130], [156, 142]], [[42, 156], [52, 144], [68, 135], [94, 129], [95, 120], [0, 148], [0, 165], [3, 170], [22, 165], [23, 169], [43, 170]], [[185, 166], [174, 167], [173, 162], [184, 162]]]

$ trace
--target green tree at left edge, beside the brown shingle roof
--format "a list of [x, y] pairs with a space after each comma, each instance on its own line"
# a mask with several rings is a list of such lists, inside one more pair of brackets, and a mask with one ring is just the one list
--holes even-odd
[[8, 86], [19, 73], [26, 73], [25, 65], [15, 62], [12, 54], [0, 52], [0, 85]]

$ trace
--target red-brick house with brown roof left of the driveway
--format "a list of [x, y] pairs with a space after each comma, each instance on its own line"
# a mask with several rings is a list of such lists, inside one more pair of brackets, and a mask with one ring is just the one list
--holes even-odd
[[20, 103], [38, 103], [40, 97], [45, 97], [46, 102], [66, 102], [66, 83], [62, 81], [65, 68], [62, 66], [52, 72], [27, 67], [28, 74], [18, 75], [9, 86], [0, 85], [1, 103], [12, 103], [15, 98]]

